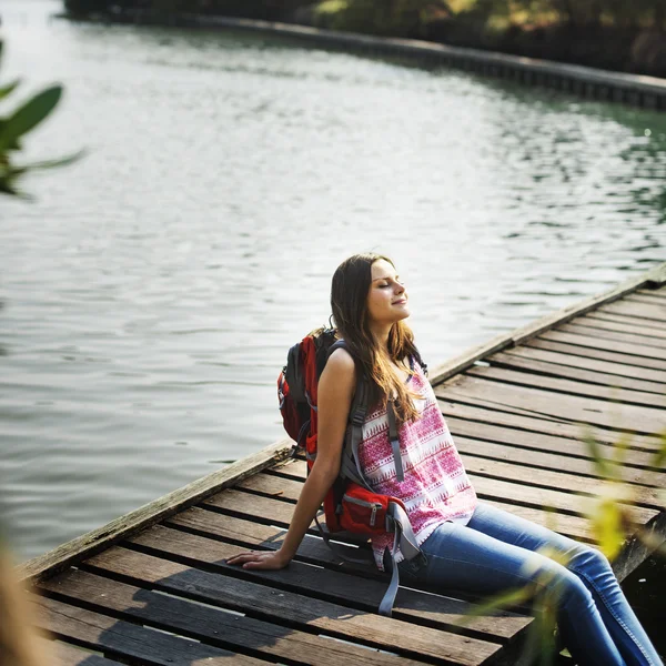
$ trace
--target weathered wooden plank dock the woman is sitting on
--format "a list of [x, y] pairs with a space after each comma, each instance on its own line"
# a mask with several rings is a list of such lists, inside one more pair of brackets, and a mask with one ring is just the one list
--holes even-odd
[[[654, 543], [666, 538], [655, 457], [666, 433], [666, 264], [501, 335], [431, 381], [482, 500], [592, 542], [585, 506], [603, 480], [582, 424], [608, 457], [627, 431], [628, 511]], [[486, 614], [461, 628], [471, 601], [411, 588], [381, 617], [386, 579], [341, 564], [315, 529], [286, 569], [228, 566], [235, 553], [280, 544], [305, 475], [290, 447], [274, 444], [26, 563], [54, 663], [516, 663], [531, 617]], [[654, 543], [628, 538], [618, 577]]]

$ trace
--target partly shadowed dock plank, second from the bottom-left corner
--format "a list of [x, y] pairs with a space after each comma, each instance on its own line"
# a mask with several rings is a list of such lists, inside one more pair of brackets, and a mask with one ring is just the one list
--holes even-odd
[[159, 666], [185, 666], [196, 660], [205, 660], [211, 666], [265, 664], [262, 659], [234, 655], [219, 647], [170, 636], [57, 599], [30, 596], [39, 627], [57, 637], [110, 654], [121, 662], [139, 659], [141, 664]]

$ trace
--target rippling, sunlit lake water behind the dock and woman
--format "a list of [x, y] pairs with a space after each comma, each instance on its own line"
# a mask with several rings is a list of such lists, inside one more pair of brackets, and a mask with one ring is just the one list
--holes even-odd
[[19, 557], [282, 437], [276, 374], [351, 253], [395, 259], [431, 366], [666, 259], [666, 114], [59, 10], [1, 8], [2, 80], [67, 88], [28, 155], [89, 151], [0, 201]]

